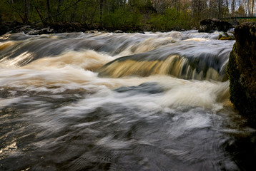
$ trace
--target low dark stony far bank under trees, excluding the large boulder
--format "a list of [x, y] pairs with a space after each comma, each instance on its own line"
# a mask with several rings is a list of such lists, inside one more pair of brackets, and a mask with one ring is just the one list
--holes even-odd
[[[174, 28], [175, 31], [186, 31], [186, 28]], [[197, 28], [191, 28], [197, 29]], [[147, 26], [145, 28], [139, 28], [137, 26], [126, 27], [102, 27], [99, 24], [89, 26], [82, 23], [71, 22], [55, 22], [49, 24], [27, 24], [24, 25], [18, 21], [4, 22], [0, 24], [0, 35], [5, 33], [19, 33], [24, 32], [26, 34], [44, 34], [44, 33], [70, 33], [70, 32], [86, 32], [86, 31], [104, 31], [104, 32], [118, 32], [118, 33], [143, 33], [144, 31], [172, 31], [172, 30], [155, 30], [153, 26]]]

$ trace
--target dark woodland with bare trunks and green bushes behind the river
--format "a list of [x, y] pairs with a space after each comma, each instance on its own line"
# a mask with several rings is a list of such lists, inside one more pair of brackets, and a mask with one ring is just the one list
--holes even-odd
[[252, 16], [254, 0], [1, 0], [0, 22], [79, 22], [88, 28], [167, 31], [207, 18]]

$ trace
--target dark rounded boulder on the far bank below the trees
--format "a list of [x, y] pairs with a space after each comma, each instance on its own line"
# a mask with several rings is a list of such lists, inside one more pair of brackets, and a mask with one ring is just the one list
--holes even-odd
[[205, 19], [200, 21], [199, 32], [213, 33], [214, 31], [228, 31], [233, 28], [232, 24], [227, 21], [218, 19]]

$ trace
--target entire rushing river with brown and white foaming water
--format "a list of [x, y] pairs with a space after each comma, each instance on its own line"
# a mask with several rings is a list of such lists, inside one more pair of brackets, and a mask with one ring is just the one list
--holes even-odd
[[218, 36], [1, 36], [0, 170], [251, 170]]

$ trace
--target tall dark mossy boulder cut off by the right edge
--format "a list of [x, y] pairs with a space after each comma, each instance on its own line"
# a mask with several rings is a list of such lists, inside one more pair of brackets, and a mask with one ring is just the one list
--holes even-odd
[[240, 114], [256, 121], [256, 23], [235, 28], [236, 43], [230, 53], [227, 74], [230, 100]]

